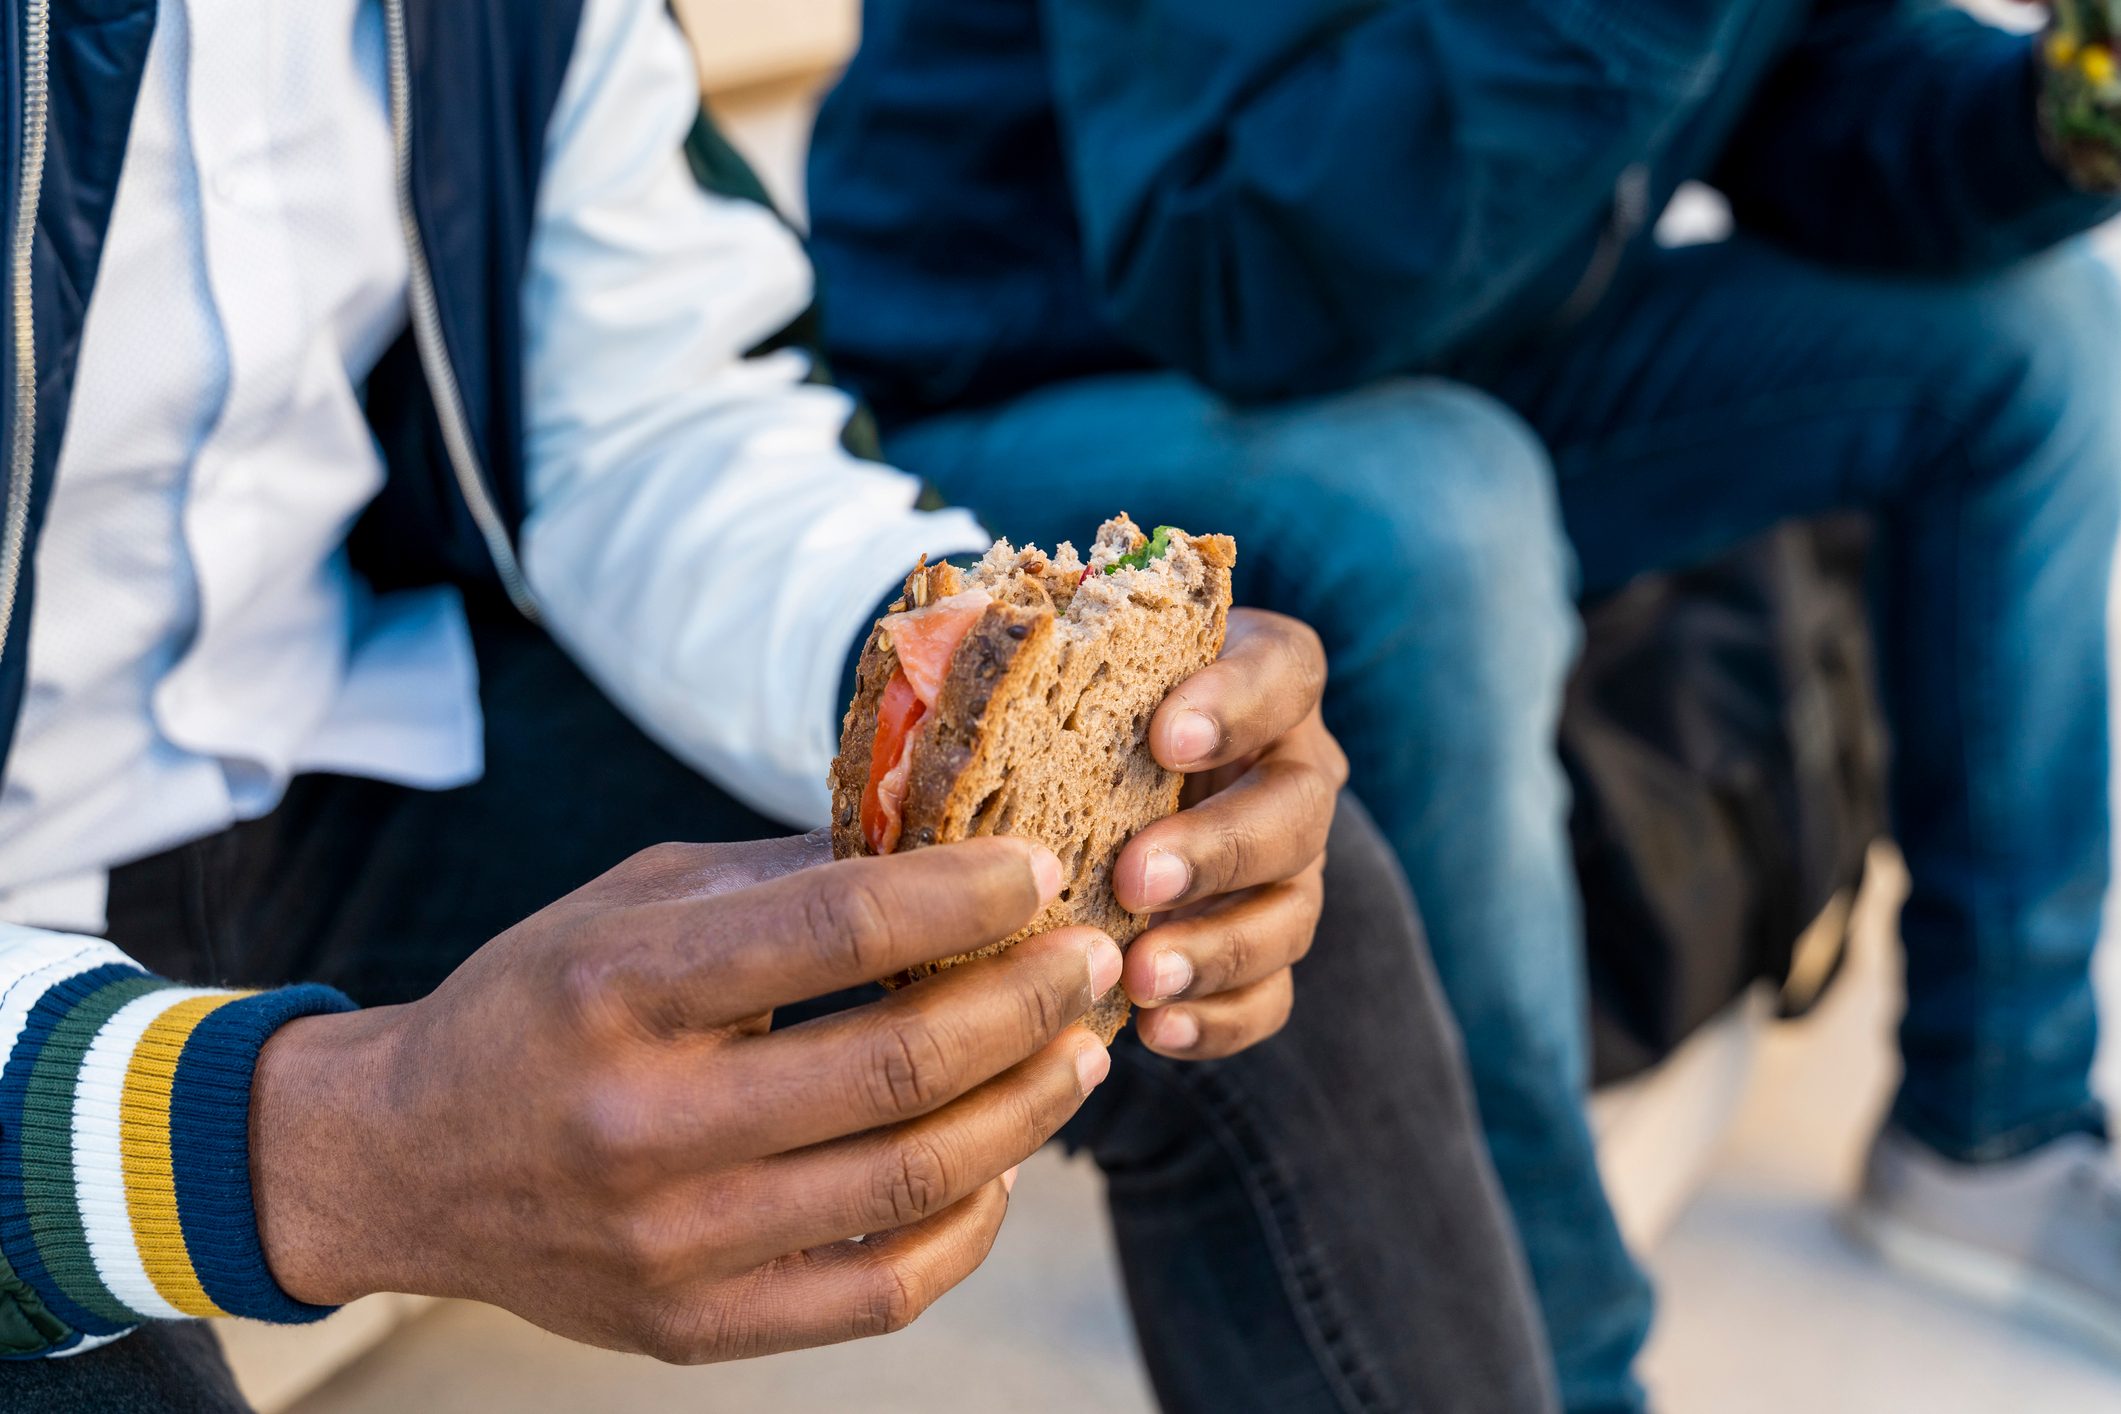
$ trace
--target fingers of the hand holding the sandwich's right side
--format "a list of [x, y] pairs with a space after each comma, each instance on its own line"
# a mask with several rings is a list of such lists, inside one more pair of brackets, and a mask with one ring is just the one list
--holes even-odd
[[1156, 759], [1190, 774], [1190, 808], [1135, 835], [1114, 869], [1122, 905], [1167, 914], [1126, 950], [1126, 994], [1154, 1051], [1230, 1056], [1290, 1018], [1290, 967], [1311, 950], [1347, 784], [1324, 691], [1317, 634], [1239, 608], [1222, 659], [1150, 723]]

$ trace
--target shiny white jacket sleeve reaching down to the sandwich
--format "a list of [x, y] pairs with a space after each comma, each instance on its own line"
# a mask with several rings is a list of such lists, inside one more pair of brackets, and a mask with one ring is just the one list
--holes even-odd
[[802, 244], [700, 191], [691, 53], [662, 0], [590, 0], [526, 288], [524, 568], [562, 644], [641, 727], [776, 818], [825, 823], [846, 653], [963, 511], [851, 458], [844, 394], [744, 358], [810, 303]]

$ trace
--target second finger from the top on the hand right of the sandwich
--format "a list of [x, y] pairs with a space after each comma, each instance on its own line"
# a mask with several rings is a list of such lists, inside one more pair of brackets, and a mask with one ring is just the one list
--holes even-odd
[[1296, 753], [1268, 753], [1220, 795], [1150, 825], [1120, 850], [1111, 888], [1137, 914], [1273, 884], [1326, 850], [1336, 784]]

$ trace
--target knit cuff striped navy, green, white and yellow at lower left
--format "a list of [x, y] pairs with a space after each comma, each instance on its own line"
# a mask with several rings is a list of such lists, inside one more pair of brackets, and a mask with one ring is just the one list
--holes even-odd
[[274, 1030], [352, 1003], [180, 988], [93, 939], [47, 950], [0, 992], [0, 1353], [153, 1319], [329, 1314], [280, 1291], [259, 1247], [250, 1077]]

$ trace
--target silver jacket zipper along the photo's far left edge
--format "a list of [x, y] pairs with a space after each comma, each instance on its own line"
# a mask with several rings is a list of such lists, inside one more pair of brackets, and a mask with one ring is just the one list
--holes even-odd
[[21, 74], [21, 187], [8, 233], [8, 335], [15, 354], [15, 428], [8, 443], [6, 519], [0, 524], [0, 657], [15, 625], [21, 558], [30, 538], [30, 494], [36, 483], [36, 297], [30, 288], [36, 254], [36, 206], [45, 187], [45, 138], [51, 119], [51, 0], [30, 0]]

